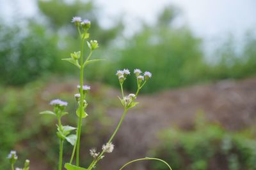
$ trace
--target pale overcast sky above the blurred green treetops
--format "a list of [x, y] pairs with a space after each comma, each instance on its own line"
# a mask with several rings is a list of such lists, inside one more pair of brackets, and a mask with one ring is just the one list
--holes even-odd
[[[14, 10], [24, 15], [36, 11], [36, 0], [0, 0], [0, 8], [12, 15], [13, 3], [19, 6]], [[127, 25], [138, 19], [155, 22], [164, 6], [176, 4], [182, 10], [182, 22], [205, 39], [218, 38], [227, 32], [239, 37], [248, 29], [256, 29], [255, 0], [95, 0], [95, 3], [101, 7], [100, 18], [106, 25], [120, 14], [125, 15]]]

